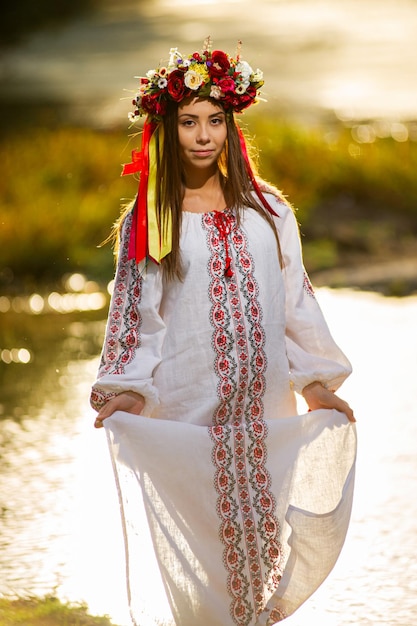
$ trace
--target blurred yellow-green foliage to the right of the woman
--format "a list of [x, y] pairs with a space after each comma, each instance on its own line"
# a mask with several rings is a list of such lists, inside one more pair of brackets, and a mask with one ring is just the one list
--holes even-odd
[[270, 118], [251, 125], [261, 174], [297, 209], [310, 271], [415, 254], [416, 127], [395, 124], [395, 139], [386, 125], [378, 137], [378, 126], [308, 128]]

